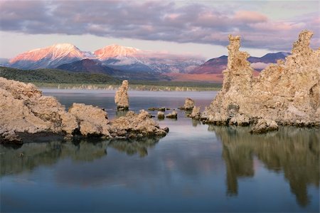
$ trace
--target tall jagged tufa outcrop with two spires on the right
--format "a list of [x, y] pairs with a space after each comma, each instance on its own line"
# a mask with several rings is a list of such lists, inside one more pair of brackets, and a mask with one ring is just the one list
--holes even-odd
[[320, 125], [320, 48], [309, 47], [302, 31], [292, 55], [252, 76], [249, 54], [239, 51], [240, 36], [229, 36], [223, 88], [201, 114], [205, 123], [248, 125], [260, 118], [280, 125]]

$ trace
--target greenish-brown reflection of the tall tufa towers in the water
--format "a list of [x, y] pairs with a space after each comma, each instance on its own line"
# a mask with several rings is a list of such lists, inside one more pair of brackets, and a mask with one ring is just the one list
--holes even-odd
[[319, 187], [319, 130], [283, 127], [265, 135], [251, 135], [248, 128], [210, 125], [208, 130], [223, 142], [228, 195], [238, 194], [239, 177], [255, 175], [257, 156], [267, 169], [284, 173], [301, 206], [309, 204], [308, 186]]

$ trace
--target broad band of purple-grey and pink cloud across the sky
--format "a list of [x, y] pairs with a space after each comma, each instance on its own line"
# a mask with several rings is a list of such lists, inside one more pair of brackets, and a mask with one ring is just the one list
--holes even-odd
[[[291, 4], [288, 1], [288, 4]], [[235, 8], [235, 7], [233, 7]], [[92, 34], [178, 43], [227, 45], [240, 34], [242, 46], [289, 50], [302, 29], [319, 32], [319, 11], [274, 20], [250, 9], [201, 1], [1, 1], [0, 29], [28, 34]], [[320, 46], [320, 35], [315, 45]]]

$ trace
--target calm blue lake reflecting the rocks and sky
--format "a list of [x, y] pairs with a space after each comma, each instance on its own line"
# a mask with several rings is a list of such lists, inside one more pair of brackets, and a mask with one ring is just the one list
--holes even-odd
[[[114, 91], [43, 93], [121, 115]], [[178, 108], [189, 97], [203, 110], [216, 94], [129, 91], [130, 109]], [[180, 110], [159, 124], [166, 137], [0, 145], [1, 212], [319, 212], [319, 129], [251, 135]]]

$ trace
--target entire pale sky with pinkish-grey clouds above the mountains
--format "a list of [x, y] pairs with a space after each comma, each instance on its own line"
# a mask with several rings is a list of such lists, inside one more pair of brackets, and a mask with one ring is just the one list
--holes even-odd
[[227, 55], [240, 35], [251, 56], [290, 51], [303, 29], [320, 47], [320, 1], [0, 1], [0, 58], [55, 43], [95, 51], [117, 43], [145, 51]]

